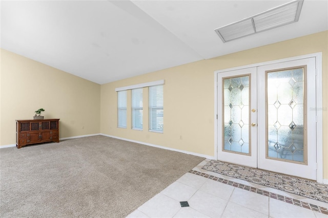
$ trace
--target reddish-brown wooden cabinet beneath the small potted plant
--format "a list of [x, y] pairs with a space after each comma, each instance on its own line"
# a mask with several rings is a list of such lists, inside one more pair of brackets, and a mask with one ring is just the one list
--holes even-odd
[[16, 120], [16, 147], [59, 142], [59, 119]]

